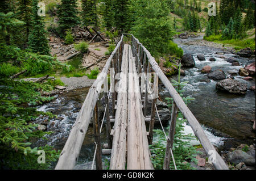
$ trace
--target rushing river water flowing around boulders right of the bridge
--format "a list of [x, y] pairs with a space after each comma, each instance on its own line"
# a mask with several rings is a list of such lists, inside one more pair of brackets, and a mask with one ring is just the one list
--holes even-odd
[[[196, 39], [202, 39], [199, 37]], [[184, 42], [184, 40], [182, 40]], [[188, 39], [187, 41], [193, 41]], [[207, 74], [200, 73], [200, 70], [209, 65], [212, 70], [222, 69], [225, 73], [234, 71], [238, 73], [248, 63], [255, 59], [237, 57], [235, 54], [224, 54], [225, 57], [233, 57], [238, 60], [241, 66], [232, 66], [224, 58], [216, 54], [223, 52], [218, 48], [203, 47], [199, 45], [186, 45], [179, 39], [175, 42], [184, 50], [185, 53], [192, 53], [195, 58], [196, 67], [185, 69], [185, 76], [181, 81], [188, 81], [188, 86], [184, 88], [185, 95], [191, 95], [196, 100], [188, 105], [197, 120], [206, 127], [213, 128], [219, 133], [226, 134], [225, 137], [232, 137], [240, 143], [251, 144], [255, 133], [252, 131], [250, 120], [255, 119], [255, 93], [248, 90], [246, 95], [234, 95], [227, 92], [216, 90], [216, 81], [200, 82]], [[197, 54], [204, 54], [206, 61], [199, 61]], [[216, 58], [215, 62], [209, 58]], [[174, 77], [174, 79], [177, 79]], [[255, 85], [255, 78], [252, 81], [245, 81], [243, 77], [237, 75], [235, 79], [246, 83], [248, 87]], [[222, 134], [222, 135], [224, 135]]]

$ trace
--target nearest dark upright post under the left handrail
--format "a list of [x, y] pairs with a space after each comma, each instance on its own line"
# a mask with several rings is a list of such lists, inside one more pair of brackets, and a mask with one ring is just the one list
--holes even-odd
[[93, 130], [94, 130], [94, 140], [97, 144], [96, 150], [96, 169], [102, 170], [102, 155], [101, 155], [101, 140], [100, 140], [100, 121], [98, 120], [98, 103], [94, 108], [94, 121], [93, 121]]

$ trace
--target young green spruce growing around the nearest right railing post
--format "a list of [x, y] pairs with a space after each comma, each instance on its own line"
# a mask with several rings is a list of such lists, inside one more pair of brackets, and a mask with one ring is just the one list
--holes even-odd
[[[181, 67], [181, 66], [180, 66]], [[187, 82], [180, 82], [180, 67], [179, 67], [179, 81], [174, 81], [174, 86], [176, 87], [176, 90], [179, 92], [180, 96], [182, 97], [184, 92], [182, 89], [184, 86], [186, 86]], [[166, 98], [168, 101], [168, 106], [172, 106], [170, 103], [173, 102], [172, 98]], [[191, 97], [183, 98], [185, 100], [185, 103], [189, 103], [191, 100], [193, 100]], [[175, 137], [174, 137], [174, 145], [172, 148], [175, 163], [178, 170], [190, 170], [194, 169], [191, 167], [189, 163], [184, 164], [184, 161], [187, 162], [195, 162], [196, 160], [196, 154], [198, 153], [196, 151], [196, 148], [190, 145], [189, 140], [195, 139], [191, 134], [184, 135], [184, 123], [186, 120], [183, 118], [183, 115], [181, 112], [177, 115], [176, 120], [176, 128], [175, 128]], [[151, 161], [155, 169], [163, 169], [163, 162], [164, 162], [164, 155], [166, 152], [166, 137], [164, 136], [164, 132], [162, 130], [154, 130], [156, 133], [155, 140], [152, 145], [150, 145], [151, 150]], [[174, 163], [170, 162], [170, 169], [174, 169]]]

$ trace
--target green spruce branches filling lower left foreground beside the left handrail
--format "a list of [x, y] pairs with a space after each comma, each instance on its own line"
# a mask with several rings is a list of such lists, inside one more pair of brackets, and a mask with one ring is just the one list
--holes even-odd
[[[35, 155], [37, 153], [38, 148], [30, 147], [30, 140], [32, 138], [43, 138], [45, 134], [51, 134], [51, 132], [36, 131], [38, 125], [31, 123], [31, 121], [40, 115], [45, 119], [51, 119], [55, 116], [49, 112], [37, 111], [36, 108], [29, 106], [36, 106], [52, 100], [53, 98], [43, 97], [38, 92], [38, 90], [51, 91], [52, 86], [2, 78], [0, 79], [0, 85], [1, 157], [3, 154], [5, 155], [5, 159], [2, 159], [2, 157], [1, 161], [5, 160], [3, 161], [5, 166], [12, 169], [27, 167], [27, 165], [22, 165], [22, 162], [17, 163], [16, 160], [14, 166], [14, 160], [8, 160], [6, 157], [22, 157], [23, 155], [23, 162], [37, 161], [37, 159], [35, 161], [31, 160], [32, 157], [29, 156], [24, 157], [24, 155]], [[27, 106], [24, 107], [24, 104]], [[36, 165], [34, 165], [35, 167]]]

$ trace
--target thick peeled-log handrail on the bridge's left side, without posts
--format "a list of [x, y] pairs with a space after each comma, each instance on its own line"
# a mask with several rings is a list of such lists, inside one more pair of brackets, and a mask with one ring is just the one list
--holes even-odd
[[96, 81], [93, 83], [92, 87], [90, 87], [88, 95], [82, 104], [82, 108], [79, 112], [79, 115], [77, 116], [75, 124], [73, 124], [71, 133], [69, 133], [68, 140], [65, 143], [63, 150], [61, 151], [60, 158], [57, 162], [55, 170], [71, 170], [75, 167], [79, 158], [82, 142], [84, 142], [85, 134], [93, 116], [94, 107], [96, 106], [98, 96], [101, 92], [101, 87], [105, 82], [106, 76], [108, 74], [110, 62], [112, 61], [115, 53], [117, 53], [117, 50], [121, 46], [122, 41], [123, 35], [121, 36], [121, 39], [119, 40], [114, 51], [106, 61], [106, 64], [101, 73], [98, 75]]

